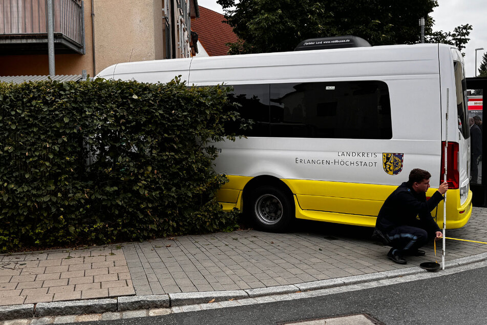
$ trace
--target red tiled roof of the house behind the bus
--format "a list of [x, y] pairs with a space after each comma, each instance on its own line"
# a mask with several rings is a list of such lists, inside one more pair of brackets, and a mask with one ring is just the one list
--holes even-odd
[[200, 17], [191, 22], [191, 30], [198, 34], [201, 43], [209, 56], [226, 55], [228, 46], [225, 43], [237, 42], [237, 35], [230, 25], [223, 23], [222, 14], [198, 6]]

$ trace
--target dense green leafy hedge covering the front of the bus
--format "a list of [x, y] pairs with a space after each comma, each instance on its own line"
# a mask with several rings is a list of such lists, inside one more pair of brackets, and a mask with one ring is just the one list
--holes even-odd
[[0, 83], [0, 250], [234, 229], [215, 200], [217, 153], [199, 140], [240, 120], [228, 90]]

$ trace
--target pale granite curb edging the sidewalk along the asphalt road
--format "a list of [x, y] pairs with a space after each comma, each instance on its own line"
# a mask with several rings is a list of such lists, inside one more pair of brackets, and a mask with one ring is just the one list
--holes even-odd
[[[487, 253], [458, 258], [447, 262], [448, 268], [456, 268], [487, 259]], [[313, 291], [341, 286], [357, 285], [359, 283], [392, 279], [407, 275], [426, 273], [420, 267], [397, 269], [378, 273], [370, 273], [342, 278], [297, 283], [295, 285], [276, 286], [258, 289], [206, 291], [189, 293], [169, 293], [162, 295], [120, 296], [109, 299], [88, 299], [58, 302], [39, 302], [36, 304], [18, 304], [13, 306], [0, 306], [0, 321], [62, 316], [73, 314], [95, 314], [104, 312], [123, 312], [154, 308], [172, 308], [192, 304], [211, 303], [244, 298], [264, 297], [280, 294]]]

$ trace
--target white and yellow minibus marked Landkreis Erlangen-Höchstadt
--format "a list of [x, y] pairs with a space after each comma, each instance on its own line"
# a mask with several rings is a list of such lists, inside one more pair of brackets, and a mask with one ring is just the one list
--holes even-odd
[[[436, 191], [448, 140], [452, 229], [472, 213], [463, 71], [456, 48], [416, 44], [122, 63], [98, 77], [233, 86], [255, 125], [247, 138], [215, 144], [216, 171], [230, 180], [218, 199], [267, 231], [294, 217], [374, 227], [411, 169], [428, 170], [427, 195]], [[441, 228], [442, 203], [438, 211]]]

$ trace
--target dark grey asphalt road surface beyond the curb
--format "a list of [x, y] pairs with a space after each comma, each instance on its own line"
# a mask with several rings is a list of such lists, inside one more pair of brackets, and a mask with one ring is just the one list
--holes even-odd
[[284, 324], [368, 314], [392, 324], [487, 323], [487, 267], [315, 298], [83, 324]]

